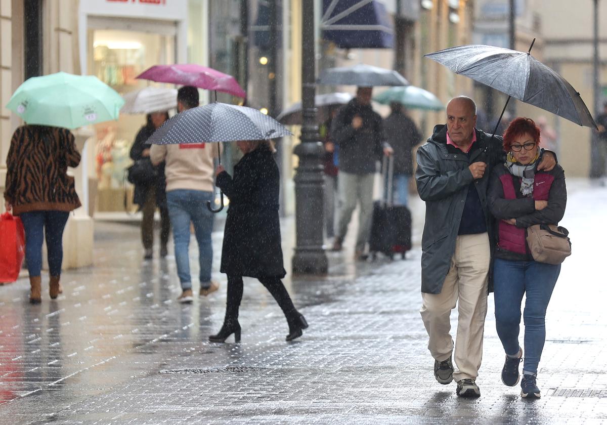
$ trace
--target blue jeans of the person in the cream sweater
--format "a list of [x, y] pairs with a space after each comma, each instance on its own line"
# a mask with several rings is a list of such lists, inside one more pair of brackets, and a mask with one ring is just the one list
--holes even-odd
[[207, 288], [211, 284], [213, 213], [206, 207], [206, 202], [213, 202], [214, 199], [213, 192], [190, 189], [176, 189], [166, 192], [166, 203], [169, 207], [169, 218], [173, 227], [177, 276], [179, 276], [182, 290], [192, 288], [192, 278], [189, 271], [190, 222], [194, 225], [198, 242], [200, 287]]

